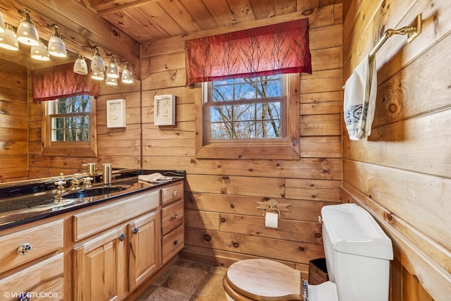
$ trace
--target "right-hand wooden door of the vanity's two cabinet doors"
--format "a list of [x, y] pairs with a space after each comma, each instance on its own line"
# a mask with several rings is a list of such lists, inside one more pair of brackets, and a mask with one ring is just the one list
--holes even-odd
[[130, 292], [159, 269], [161, 224], [159, 210], [128, 224]]

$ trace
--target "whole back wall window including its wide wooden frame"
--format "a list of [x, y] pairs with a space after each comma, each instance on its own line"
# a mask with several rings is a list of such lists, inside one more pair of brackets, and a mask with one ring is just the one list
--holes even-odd
[[205, 82], [196, 156], [299, 159], [298, 87], [299, 73]]

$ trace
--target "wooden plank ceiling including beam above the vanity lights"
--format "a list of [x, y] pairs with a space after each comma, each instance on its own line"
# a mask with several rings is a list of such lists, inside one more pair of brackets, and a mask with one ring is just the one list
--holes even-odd
[[66, 48], [75, 54], [92, 57], [91, 47], [98, 45], [104, 59], [108, 53], [116, 54], [116, 61], [128, 61], [139, 75], [144, 43], [190, 39], [295, 20], [342, 1], [1, 0], [0, 11], [6, 23], [17, 26], [22, 18], [19, 11], [27, 8], [42, 39], [51, 37], [52, 25], [56, 24]]

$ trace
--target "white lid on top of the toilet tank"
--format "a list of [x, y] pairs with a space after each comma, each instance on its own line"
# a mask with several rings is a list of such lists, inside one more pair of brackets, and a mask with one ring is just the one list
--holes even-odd
[[323, 231], [337, 252], [380, 259], [393, 259], [392, 241], [373, 216], [357, 204], [339, 204], [321, 209]]

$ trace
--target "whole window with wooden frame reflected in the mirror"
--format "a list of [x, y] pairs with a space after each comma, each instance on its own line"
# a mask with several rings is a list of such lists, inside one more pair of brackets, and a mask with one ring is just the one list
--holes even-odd
[[45, 155], [96, 156], [94, 97], [82, 95], [43, 102]]

